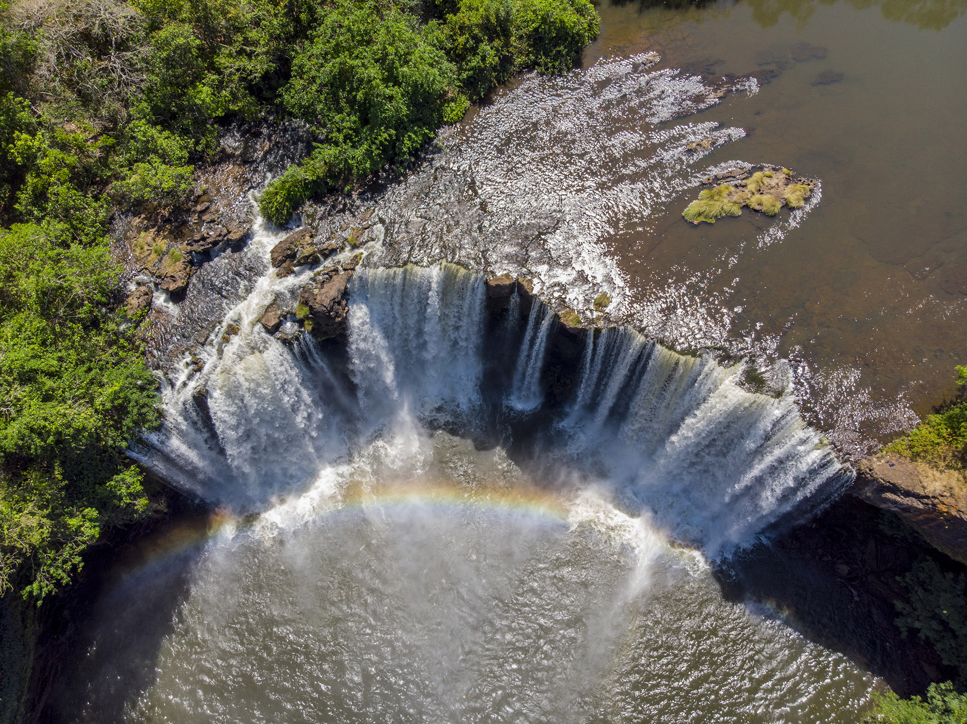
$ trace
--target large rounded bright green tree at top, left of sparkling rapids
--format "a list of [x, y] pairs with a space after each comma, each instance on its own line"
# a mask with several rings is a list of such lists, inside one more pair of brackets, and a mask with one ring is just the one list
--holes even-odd
[[[292, 62], [282, 93], [290, 113], [325, 133], [312, 155], [334, 183], [412, 159], [455, 97], [454, 65], [438, 23], [376, 2], [339, 0]], [[298, 196], [296, 196], [298, 198]]]

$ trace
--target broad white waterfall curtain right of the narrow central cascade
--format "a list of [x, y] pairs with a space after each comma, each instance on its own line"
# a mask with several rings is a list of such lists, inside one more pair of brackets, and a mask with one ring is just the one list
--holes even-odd
[[740, 372], [606, 330], [585, 350], [566, 448], [675, 536], [727, 555], [849, 479], [791, 396], [745, 391]]

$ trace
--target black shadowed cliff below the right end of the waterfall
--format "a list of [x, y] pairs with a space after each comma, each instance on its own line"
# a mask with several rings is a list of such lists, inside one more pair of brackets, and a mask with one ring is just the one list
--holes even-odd
[[901, 696], [956, 679], [940, 655], [895, 623], [903, 576], [930, 559], [962, 569], [893, 513], [844, 495], [803, 526], [716, 571], [726, 598], [766, 604], [807, 639], [841, 652]]

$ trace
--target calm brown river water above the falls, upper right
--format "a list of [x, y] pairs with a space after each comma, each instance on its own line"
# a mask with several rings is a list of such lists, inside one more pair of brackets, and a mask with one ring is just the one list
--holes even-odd
[[695, 227], [679, 216], [692, 190], [610, 247], [643, 296], [730, 310], [730, 335], [789, 359], [811, 419], [839, 428], [843, 452], [930, 412], [967, 361], [965, 9], [602, 3], [601, 36], [585, 55], [590, 66], [654, 50], [657, 69], [704, 77], [778, 72], [751, 99], [728, 96], [689, 120], [747, 131], [704, 159], [712, 164], [768, 162], [820, 179], [806, 221], [760, 245], [764, 217]]

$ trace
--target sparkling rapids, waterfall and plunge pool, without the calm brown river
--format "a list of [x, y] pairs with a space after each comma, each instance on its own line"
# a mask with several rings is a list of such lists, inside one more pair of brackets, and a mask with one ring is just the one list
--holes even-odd
[[[598, 246], [709, 171], [690, 142], [744, 134], [661, 124], [758, 88], [654, 62], [527, 78], [409, 178], [308, 210], [345, 236], [375, 207], [344, 339], [259, 324], [313, 271], [279, 279], [286, 232], [260, 220], [192, 277], [152, 339], [164, 423], [133, 454], [218, 512], [121, 566], [64, 718], [856, 720], [873, 678], [714, 573], [849, 471], [788, 364], [753, 393], [744, 363], [662, 347], [721, 344], [729, 320], [634, 298]], [[538, 296], [488, 304], [502, 272]], [[650, 335], [565, 329], [566, 306]]]

